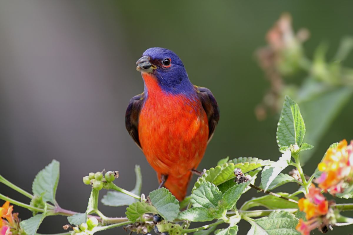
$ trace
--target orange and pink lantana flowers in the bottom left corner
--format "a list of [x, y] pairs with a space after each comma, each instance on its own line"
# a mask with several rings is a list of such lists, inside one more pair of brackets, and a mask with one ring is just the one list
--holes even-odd
[[0, 207], [0, 235], [24, 234], [20, 229], [18, 213], [12, 213], [13, 206], [5, 202]]

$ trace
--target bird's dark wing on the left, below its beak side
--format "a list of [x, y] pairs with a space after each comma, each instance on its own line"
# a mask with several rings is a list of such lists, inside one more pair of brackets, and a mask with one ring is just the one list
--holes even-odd
[[125, 127], [137, 146], [142, 150], [138, 139], [138, 117], [143, 105], [144, 93], [135, 95], [130, 100], [125, 113]]

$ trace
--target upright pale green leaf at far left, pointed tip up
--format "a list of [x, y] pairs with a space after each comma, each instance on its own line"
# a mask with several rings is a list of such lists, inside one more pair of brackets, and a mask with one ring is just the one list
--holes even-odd
[[58, 187], [60, 163], [53, 160], [48, 166], [36, 175], [32, 183], [32, 192], [35, 196], [42, 196], [44, 202], [56, 204], [55, 194]]

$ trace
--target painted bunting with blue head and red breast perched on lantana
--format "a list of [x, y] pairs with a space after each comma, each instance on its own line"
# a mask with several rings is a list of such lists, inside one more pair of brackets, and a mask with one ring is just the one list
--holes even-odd
[[209, 89], [190, 82], [171, 50], [149, 48], [136, 65], [144, 91], [130, 100], [125, 126], [156, 171], [158, 188], [181, 201], [219, 122], [219, 106]]

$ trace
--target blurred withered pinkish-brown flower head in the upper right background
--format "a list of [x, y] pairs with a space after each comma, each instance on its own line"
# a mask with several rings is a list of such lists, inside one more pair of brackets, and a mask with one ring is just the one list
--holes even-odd
[[[266, 118], [266, 110], [276, 113], [284, 89], [282, 75], [293, 74], [306, 62], [302, 43], [309, 38], [309, 31], [300, 29], [297, 34], [292, 28], [292, 17], [285, 13], [268, 31], [268, 45], [256, 52], [256, 57], [271, 83], [263, 101], [255, 109], [257, 119]], [[304, 61], [304, 62], [303, 62]]]

